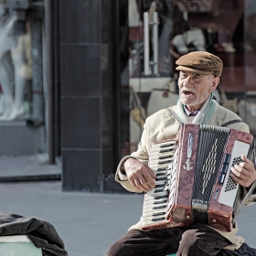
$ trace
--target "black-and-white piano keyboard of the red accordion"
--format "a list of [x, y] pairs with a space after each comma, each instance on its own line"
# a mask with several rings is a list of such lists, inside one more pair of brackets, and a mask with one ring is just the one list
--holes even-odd
[[145, 193], [143, 226], [166, 219], [169, 206], [168, 170], [173, 163], [176, 141], [152, 144], [149, 167], [155, 173], [155, 188]]

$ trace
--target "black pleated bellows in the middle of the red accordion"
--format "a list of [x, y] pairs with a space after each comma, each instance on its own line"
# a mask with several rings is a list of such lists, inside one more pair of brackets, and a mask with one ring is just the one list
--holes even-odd
[[228, 138], [227, 128], [210, 126], [200, 130], [197, 144], [197, 171], [192, 195], [194, 223], [208, 224], [209, 200]]

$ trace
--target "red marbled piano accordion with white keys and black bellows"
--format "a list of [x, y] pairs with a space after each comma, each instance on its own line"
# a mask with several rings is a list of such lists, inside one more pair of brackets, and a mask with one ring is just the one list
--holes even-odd
[[241, 155], [251, 154], [252, 135], [187, 123], [177, 137], [151, 145], [148, 165], [156, 179], [144, 195], [142, 229], [202, 223], [229, 232], [240, 194], [230, 168], [242, 162]]

